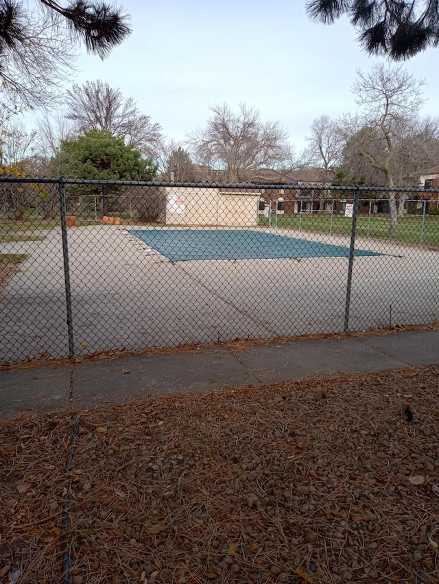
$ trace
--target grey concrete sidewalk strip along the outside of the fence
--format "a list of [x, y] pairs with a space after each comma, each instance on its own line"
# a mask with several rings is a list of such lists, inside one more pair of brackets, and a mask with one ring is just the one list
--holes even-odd
[[145, 395], [219, 390], [343, 373], [439, 364], [439, 329], [304, 339], [190, 353], [131, 355], [73, 366], [0, 371], [0, 419], [88, 409]]

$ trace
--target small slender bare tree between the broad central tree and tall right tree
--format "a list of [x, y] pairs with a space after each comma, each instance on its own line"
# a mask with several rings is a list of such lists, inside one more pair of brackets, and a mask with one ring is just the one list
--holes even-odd
[[[322, 185], [329, 183], [329, 174], [340, 162], [343, 149], [342, 133], [337, 121], [327, 115], [315, 119], [311, 125], [311, 135], [307, 137], [309, 156], [313, 163], [322, 167]], [[320, 191], [320, 211], [324, 206], [324, 190]]]

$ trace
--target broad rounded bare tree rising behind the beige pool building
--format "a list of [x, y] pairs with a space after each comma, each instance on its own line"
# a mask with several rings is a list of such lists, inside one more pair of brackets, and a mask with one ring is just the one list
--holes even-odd
[[287, 130], [279, 121], [261, 121], [259, 110], [244, 103], [235, 113], [228, 104], [210, 108], [206, 127], [188, 135], [201, 164], [224, 170], [225, 180], [240, 182], [261, 167], [277, 167], [291, 157]]

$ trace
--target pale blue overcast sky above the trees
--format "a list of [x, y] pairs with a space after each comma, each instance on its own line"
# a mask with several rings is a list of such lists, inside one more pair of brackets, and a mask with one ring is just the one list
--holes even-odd
[[[263, 119], [280, 120], [300, 150], [313, 119], [355, 112], [355, 71], [379, 60], [361, 51], [348, 21], [309, 21], [305, 0], [121, 4], [131, 36], [104, 61], [83, 51], [75, 82], [119, 87], [176, 140], [204, 126], [209, 106], [246, 102]], [[439, 49], [429, 49], [404, 65], [428, 79], [424, 115], [438, 113], [438, 58]]]

